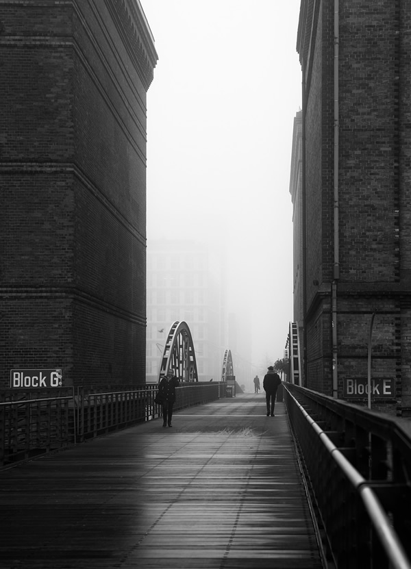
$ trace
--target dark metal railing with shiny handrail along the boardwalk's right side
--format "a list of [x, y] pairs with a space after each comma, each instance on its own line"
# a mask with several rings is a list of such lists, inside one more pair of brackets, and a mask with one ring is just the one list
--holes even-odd
[[284, 384], [327, 557], [411, 569], [411, 422]]

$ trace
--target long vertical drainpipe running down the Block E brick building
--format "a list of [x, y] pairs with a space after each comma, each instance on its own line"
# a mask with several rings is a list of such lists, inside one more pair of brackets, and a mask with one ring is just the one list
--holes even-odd
[[339, 0], [334, 0], [334, 270], [332, 281], [332, 396], [338, 396], [338, 349], [337, 349], [337, 281], [340, 278], [340, 242], [338, 227], [338, 143], [339, 143], [339, 108], [338, 108], [338, 42]]

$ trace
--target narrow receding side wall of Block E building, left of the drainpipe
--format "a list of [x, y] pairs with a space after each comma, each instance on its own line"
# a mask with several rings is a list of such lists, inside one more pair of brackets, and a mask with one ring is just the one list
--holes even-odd
[[[314, 27], [307, 60], [306, 77], [306, 385], [332, 394], [332, 350], [330, 301], [326, 290], [332, 279], [334, 246], [332, 238], [334, 148], [334, 97], [332, 84], [334, 14], [332, 5], [314, 6]], [[328, 78], [326, 81], [325, 78]], [[330, 176], [331, 174], [331, 176]], [[307, 316], [307, 315], [306, 315]]]

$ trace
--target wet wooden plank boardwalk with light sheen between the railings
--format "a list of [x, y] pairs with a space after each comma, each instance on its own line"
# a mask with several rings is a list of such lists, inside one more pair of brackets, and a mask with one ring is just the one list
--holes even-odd
[[0, 568], [321, 569], [284, 404], [221, 399], [0, 472]]

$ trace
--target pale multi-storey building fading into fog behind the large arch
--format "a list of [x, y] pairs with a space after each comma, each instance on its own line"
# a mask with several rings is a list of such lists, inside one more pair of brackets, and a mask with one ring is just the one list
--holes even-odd
[[153, 240], [147, 245], [147, 382], [158, 380], [171, 325], [185, 321], [199, 381], [219, 381], [227, 346], [221, 264], [206, 244]]

